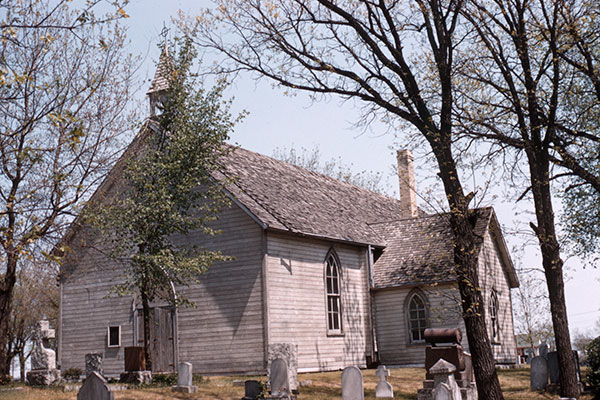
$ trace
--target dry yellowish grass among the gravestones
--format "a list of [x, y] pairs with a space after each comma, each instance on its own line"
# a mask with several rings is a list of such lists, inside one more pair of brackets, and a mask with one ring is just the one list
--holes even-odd
[[[506, 400], [517, 399], [557, 399], [557, 395], [529, 390], [529, 369], [499, 370], [500, 384]], [[422, 368], [391, 369], [388, 381], [394, 387], [394, 398], [416, 400], [417, 389], [422, 386], [425, 372]], [[364, 370], [365, 399], [375, 399], [375, 386], [379, 379], [375, 370]], [[244, 396], [243, 386], [234, 386], [234, 380], [257, 379], [265, 377], [214, 376], [198, 385], [198, 393], [182, 394], [172, 392], [170, 388], [145, 388], [138, 390], [115, 391], [117, 400], [163, 400], [163, 399], [241, 399]], [[298, 375], [299, 381], [312, 381], [311, 386], [301, 387], [299, 399], [341, 399], [341, 371], [309, 373]], [[25, 387], [23, 391], [0, 391], [0, 399], [9, 400], [74, 400], [77, 392], [63, 392], [61, 388], [32, 389]], [[485, 400], [485, 399], [481, 399]], [[582, 396], [580, 400], [592, 400], [591, 396]]]

